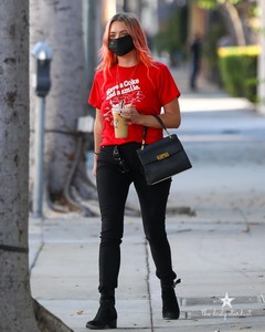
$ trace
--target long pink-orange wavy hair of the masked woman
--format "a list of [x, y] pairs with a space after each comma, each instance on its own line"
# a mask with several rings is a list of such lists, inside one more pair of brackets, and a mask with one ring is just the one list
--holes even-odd
[[99, 50], [99, 65], [97, 71], [103, 71], [104, 76], [106, 77], [107, 71], [118, 63], [117, 55], [108, 50], [108, 40], [109, 31], [113, 22], [119, 21], [123, 22], [131, 35], [138, 61], [142, 62], [147, 68], [155, 65], [155, 60], [151, 55], [151, 51], [148, 48], [147, 38], [144, 33], [138, 19], [132, 13], [120, 12], [115, 14], [106, 25], [104, 35], [103, 35], [103, 45]]

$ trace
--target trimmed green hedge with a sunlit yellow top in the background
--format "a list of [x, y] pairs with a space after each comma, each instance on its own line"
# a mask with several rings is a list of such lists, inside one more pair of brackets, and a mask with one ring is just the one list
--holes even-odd
[[232, 96], [257, 102], [258, 52], [256, 46], [219, 49], [221, 80], [225, 91]]

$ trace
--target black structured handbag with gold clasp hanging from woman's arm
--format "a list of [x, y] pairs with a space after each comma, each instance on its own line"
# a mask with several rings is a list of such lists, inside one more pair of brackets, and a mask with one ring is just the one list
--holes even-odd
[[148, 185], [160, 183], [192, 167], [190, 159], [176, 134], [170, 134], [161, 117], [153, 115], [168, 136], [145, 145], [147, 127], [144, 129], [142, 145], [136, 151], [145, 170]]

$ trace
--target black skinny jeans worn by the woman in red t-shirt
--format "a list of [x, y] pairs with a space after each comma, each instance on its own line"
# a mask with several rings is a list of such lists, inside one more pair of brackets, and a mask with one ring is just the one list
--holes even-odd
[[166, 207], [171, 179], [153, 186], [146, 184], [136, 154], [138, 143], [118, 146], [128, 172], [123, 173], [114, 159], [114, 146], [104, 146], [97, 159], [97, 193], [102, 214], [99, 246], [99, 291], [118, 286], [120, 243], [124, 235], [124, 212], [129, 186], [134, 183], [141, 208], [142, 225], [156, 266], [156, 274], [162, 280], [173, 280], [171, 251], [166, 232]]

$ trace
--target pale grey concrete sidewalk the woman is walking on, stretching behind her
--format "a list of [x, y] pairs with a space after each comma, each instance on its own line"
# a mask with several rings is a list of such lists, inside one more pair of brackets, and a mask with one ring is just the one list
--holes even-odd
[[[190, 93], [184, 72], [174, 74], [183, 92], [178, 134], [193, 165], [173, 178], [168, 209], [181, 317], [161, 319], [141, 220], [126, 216], [118, 330], [265, 331], [265, 118], [213, 86]], [[128, 205], [138, 208], [132, 188]], [[32, 294], [75, 332], [88, 331], [98, 308], [99, 229], [99, 217], [30, 220]]]

